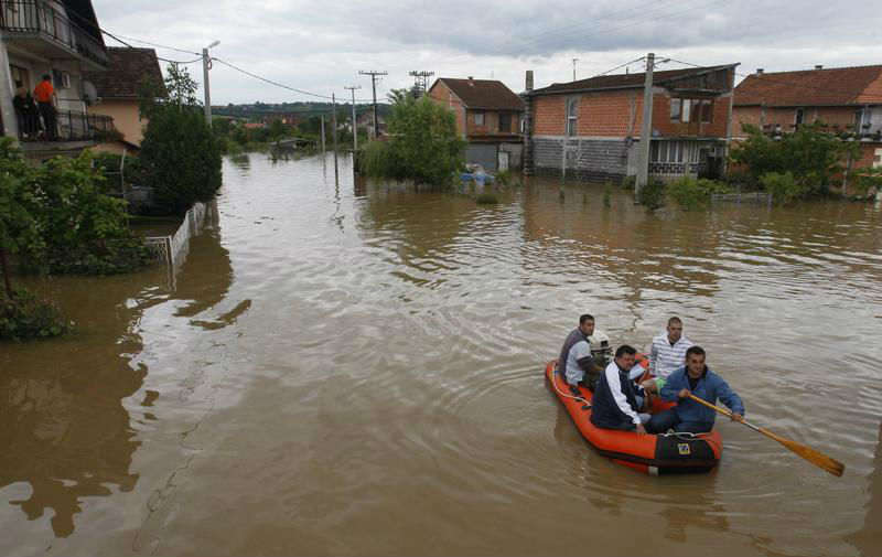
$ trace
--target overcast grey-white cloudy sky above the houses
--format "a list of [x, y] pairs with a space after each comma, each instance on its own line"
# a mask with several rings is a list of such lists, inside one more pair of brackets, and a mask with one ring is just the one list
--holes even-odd
[[[701, 65], [740, 62], [738, 72], [882, 63], [879, 0], [490, 0], [361, 2], [259, 0], [94, 0], [103, 29], [212, 55], [275, 82], [349, 98], [345, 85], [387, 71], [377, 95], [413, 83], [412, 69], [435, 76], [496, 78], [515, 92], [533, 69], [536, 87], [590, 77], [646, 52]], [[105, 38], [108, 46], [118, 45]], [[191, 61], [185, 52], [159, 56]], [[202, 81], [201, 63], [189, 65]], [[675, 62], [660, 69], [684, 67]], [[639, 72], [638, 63], [630, 66]], [[624, 68], [620, 69], [624, 72]], [[212, 104], [308, 100], [215, 63]]]

